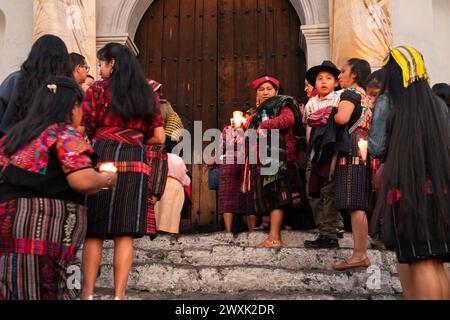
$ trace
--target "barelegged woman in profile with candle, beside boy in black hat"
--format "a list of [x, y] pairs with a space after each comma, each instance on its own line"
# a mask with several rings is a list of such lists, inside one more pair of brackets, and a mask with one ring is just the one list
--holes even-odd
[[[369, 139], [371, 111], [364, 85], [370, 75], [370, 65], [361, 59], [350, 59], [339, 75], [344, 89], [334, 115], [338, 126], [338, 159], [336, 166], [336, 209], [351, 217], [354, 249], [350, 259], [334, 266], [335, 270], [369, 267], [367, 257], [368, 223], [366, 212], [370, 199], [370, 161], [364, 159], [359, 142]], [[367, 152], [367, 150], [366, 150]]]

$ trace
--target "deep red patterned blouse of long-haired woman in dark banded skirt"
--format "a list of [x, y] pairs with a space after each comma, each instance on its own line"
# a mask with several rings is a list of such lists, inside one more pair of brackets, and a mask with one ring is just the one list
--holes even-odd
[[93, 139], [96, 129], [102, 127], [118, 127], [141, 132], [147, 140], [153, 136], [155, 128], [164, 127], [161, 112], [151, 119], [132, 119], [125, 123], [120, 116], [110, 112], [111, 91], [108, 80], [95, 82], [87, 91], [83, 101], [83, 125], [86, 134]]

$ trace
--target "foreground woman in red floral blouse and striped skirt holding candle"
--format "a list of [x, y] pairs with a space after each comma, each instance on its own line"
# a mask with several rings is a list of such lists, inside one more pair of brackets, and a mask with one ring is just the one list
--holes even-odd
[[86, 233], [80, 193], [112, 187], [75, 128], [83, 93], [54, 77], [0, 141], [0, 300], [75, 299], [67, 268]]

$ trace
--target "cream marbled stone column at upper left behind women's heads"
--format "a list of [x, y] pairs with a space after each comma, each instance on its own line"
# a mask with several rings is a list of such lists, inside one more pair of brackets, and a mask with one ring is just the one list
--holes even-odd
[[70, 52], [86, 57], [94, 73], [96, 59], [96, 0], [34, 0], [33, 39], [54, 34]]

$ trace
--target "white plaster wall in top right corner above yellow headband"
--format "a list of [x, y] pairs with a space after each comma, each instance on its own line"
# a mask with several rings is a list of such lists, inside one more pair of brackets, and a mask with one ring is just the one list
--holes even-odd
[[432, 83], [450, 81], [450, 1], [392, 0], [394, 46], [422, 52]]

